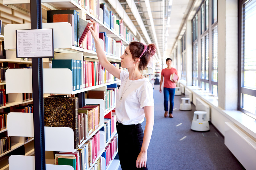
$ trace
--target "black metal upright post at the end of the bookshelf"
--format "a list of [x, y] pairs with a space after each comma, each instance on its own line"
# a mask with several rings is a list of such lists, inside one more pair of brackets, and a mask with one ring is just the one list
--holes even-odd
[[[30, 0], [31, 29], [42, 28], [41, 0]], [[45, 170], [43, 60], [32, 58], [35, 169]]]

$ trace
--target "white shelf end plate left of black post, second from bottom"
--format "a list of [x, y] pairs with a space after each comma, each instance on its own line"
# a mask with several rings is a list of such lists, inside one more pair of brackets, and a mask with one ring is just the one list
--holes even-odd
[[8, 136], [34, 137], [33, 122], [33, 113], [8, 113]]

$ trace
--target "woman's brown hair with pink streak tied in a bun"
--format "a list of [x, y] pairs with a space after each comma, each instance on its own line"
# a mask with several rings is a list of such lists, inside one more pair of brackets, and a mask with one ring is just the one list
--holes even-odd
[[137, 58], [140, 59], [139, 70], [142, 71], [147, 67], [150, 58], [156, 53], [156, 45], [149, 44], [147, 46], [141, 42], [132, 41], [129, 44], [129, 50], [132, 54], [132, 59], [134, 60], [134, 62], [136, 61]]

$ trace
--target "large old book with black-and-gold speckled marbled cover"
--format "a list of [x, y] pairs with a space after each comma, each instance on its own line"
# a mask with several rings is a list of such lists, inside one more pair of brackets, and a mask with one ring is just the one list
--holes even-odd
[[78, 98], [44, 97], [44, 126], [72, 128], [74, 149], [78, 149]]

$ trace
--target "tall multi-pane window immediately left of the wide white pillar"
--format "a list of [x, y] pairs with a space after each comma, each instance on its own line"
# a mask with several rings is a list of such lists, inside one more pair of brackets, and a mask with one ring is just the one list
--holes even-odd
[[204, 0], [192, 18], [193, 86], [214, 96], [218, 96], [217, 18], [217, 0]]

